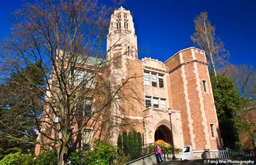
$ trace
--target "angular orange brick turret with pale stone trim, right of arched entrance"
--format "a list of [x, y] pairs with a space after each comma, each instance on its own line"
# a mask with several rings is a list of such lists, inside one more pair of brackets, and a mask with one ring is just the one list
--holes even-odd
[[[193, 149], [221, 147], [217, 114], [205, 62], [204, 52], [196, 48], [180, 51], [165, 62], [170, 70], [171, 106], [181, 111], [184, 145], [190, 145]], [[203, 80], [206, 81], [206, 92]], [[214, 138], [210, 124], [214, 125]]]

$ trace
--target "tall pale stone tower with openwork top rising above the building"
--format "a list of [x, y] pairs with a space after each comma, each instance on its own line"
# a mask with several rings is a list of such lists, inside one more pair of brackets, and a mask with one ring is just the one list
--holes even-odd
[[[107, 61], [111, 63], [110, 83], [112, 87], [120, 86], [131, 73], [131, 64], [138, 63], [137, 36], [129, 10], [123, 6], [115, 10], [110, 19], [109, 34], [107, 35]], [[138, 64], [137, 64], [138, 66]], [[140, 70], [142, 74], [142, 69]], [[134, 74], [133, 74], [134, 75]], [[126, 91], [127, 92], [127, 91]], [[113, 125], [119, 125], [128, 112], [125, 101], [116, 96], [111, 104]], [[113, 127], [110, 131], [110, 142], [116, 144], [120, 127]]]

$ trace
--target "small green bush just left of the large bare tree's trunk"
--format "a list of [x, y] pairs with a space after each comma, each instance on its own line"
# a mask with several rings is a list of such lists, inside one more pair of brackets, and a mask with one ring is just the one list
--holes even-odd
[[[52, 161], [52, 150], [47, 150], [44, 153], [41, 153], [36, 156], [36, 159], [33, 161], [33, 164], [51, 164]], [[54, 164], [58, 163], [58, 155], [57, 151], [55, 152], [55, 157], [54, 157]]]

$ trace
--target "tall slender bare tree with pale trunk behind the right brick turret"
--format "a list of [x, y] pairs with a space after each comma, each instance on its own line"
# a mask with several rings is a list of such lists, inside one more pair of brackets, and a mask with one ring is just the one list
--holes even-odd
[[205, 51], [207, 62], [216, 77], [218, 64], [225, 63], [229, 53], [219, 37], [215, 37], [215, 27], [208, 20], [207, 12], [201, 12], [200, 16], [194, 19], [194, 28], [196, 32], [191, 36], [191, 40]]

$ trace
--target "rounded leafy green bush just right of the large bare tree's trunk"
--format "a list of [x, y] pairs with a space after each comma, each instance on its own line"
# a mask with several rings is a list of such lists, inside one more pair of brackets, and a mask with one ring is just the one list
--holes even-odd
[[85, 164], [112, 164], [116, 160], [116, 148], [111, 144], [99, 141], [85, 157]]

